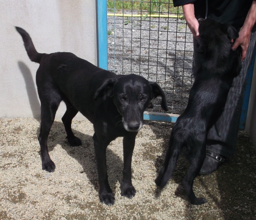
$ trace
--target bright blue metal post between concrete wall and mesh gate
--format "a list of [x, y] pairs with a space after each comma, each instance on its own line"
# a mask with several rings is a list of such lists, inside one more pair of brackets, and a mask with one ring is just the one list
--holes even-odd
[[97, 0], [98, 66], [108, 69], [107, 0]]

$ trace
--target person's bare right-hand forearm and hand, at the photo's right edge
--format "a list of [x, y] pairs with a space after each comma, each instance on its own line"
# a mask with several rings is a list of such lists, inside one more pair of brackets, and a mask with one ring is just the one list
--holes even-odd
[[232, 49], [235, 50], [239, 45], [242, 47], [242, 57], [243, 61], [246, 57], [246, 52], [250, 43], [250, 35], [252, 31], [252, 27], [256, 23], [256, 0], [252, 1], [252, 6], [248, 11], [246, 19], [244, 21], [243, 27], [241, 27], [239, 31], [239, 37], [236, 39], [235, 43], [232, 46]]

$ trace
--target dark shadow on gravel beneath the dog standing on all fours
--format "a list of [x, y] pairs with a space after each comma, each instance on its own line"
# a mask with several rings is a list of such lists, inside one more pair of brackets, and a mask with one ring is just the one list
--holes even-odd
[[[38, 120], [40, 122], [40, 120]], [[54, 161], [54, 157], [51, 155], [51, 151], [54, 150], [57, 144], [59, 144], [69, 156], [73, 157], [78, 163], [81, 164], [82, 169], [77, 169], [77, 173], [84, 173], [89, 179], [90, 183], [93, 185], [94, 189], [99, 191], [98, 184], [98, 171], [97, 163], [94, 153], [92, 135], [86, 133], [81, 133], [76, 129], [72, 128], [73, 133], [82, 141], [82, 146], [71, 147], [66, 139], [66, 131], [62, 122], [54, 121], [49, 137], [48, 137], [48, 150], [52, 161], [56, 165], [56, 170], [58, 169], [58, 161], [64, 160], [64, 158], [58, 158]], [[37, 131], [37, 136], [40, 133], [40, 128]], [[38, 153], [41, 156], [40, 150]], [[108, 170], [108, 181], [109, 185], [113, 191], [113, 194], [116, 193], [116, 185], [119, 182], [119, 185], [122, 182], [122, 169], [123, 161], [116, 155], [111, 149], [107, 148], [106, 152], [107, 157], [107, 170]], [[85, 178], [86, 178], [85, 177]]]

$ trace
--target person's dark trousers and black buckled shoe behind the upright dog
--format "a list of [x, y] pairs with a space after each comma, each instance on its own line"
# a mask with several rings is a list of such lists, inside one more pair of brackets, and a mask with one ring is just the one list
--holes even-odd
[[[206, 156], [200, 171], [201, 174], [211, 173], [219, 167], [220, 162], [222, 162], [224, 159], [221, 159], [218, 154], [230, 158], [234, 153], [243, 102], [245, 77], [252, 62], [255, 41], [256, 34], [255, 32], [252, 32], [247, 55], [244, 59], [239, 76], [234, 79], [233, 85], [230, 88], [225, 109], [220, 118], [208, 132], [206, 149], [207, 154], [211, 156]], [[194, 75], [197, 74], [201, 62], [201, 56], [202, 54], [197, 52], [196, 40], [194, 39]]]

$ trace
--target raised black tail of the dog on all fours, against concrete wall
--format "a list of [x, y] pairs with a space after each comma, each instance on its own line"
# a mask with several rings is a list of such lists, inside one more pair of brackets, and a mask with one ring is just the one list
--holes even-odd
[[16, 27], [16, 30], [20, 33], [20, 35], [23, 39], [24, 46], [28, 53], [29, 59], [33, 62], [40, 63], [40, 61], [44, 57], [45, 53], [38, 53], [36, 51], [36, 48], [31, 40], [29, 34], [25, 30], [23, 30], [20, 27]]

